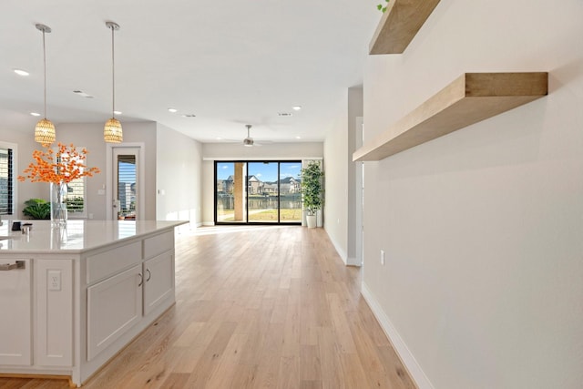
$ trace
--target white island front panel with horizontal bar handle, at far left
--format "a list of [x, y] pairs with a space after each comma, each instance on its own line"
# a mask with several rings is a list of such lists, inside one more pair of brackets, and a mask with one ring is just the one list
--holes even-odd
[[10, 312], [0, 319], [0, 364], [32, 364], [31, 267], [30, 260], [0, 262], [0, 312]]

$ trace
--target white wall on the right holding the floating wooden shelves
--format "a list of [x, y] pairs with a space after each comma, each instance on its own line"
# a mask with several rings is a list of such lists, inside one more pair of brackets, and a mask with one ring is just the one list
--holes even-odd
[[466, 71], [550, 73], [547, 97], [365, 163], [363, 292], [422, 388], [581, 387], [581, 20], [444, 0], [404, 55], [369, 56], [366, 139]]

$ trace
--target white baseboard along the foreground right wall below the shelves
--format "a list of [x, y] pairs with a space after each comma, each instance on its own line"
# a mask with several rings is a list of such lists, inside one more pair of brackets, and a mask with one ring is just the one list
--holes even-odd
[[427, 376], [424, 374], [419, 363], [417, 363], [417, 360], [415, 360], [413, 353], [411, 353], [406, 343], [404, 343], [401, 335], [397, 333], [393, 323], [389, 320], [386, 313], [384, 313], [381, 304], [377, 302], [373, 293], [368, 289], [364, 282], [361, 293], [363, 294], [364, 300], [366, 300], [371, 307], [374, 317], [376, 317], [376, 320], [381, 324], [384, 333], [393, 344], [394, 351], [399, 355], [405, 368], [409, 374], [411, 374], [411, 378], [413, 378], [415, 384], [417, 384], [417, 387], [419, 389], [435, 389], [434, 385], [431, 384]]

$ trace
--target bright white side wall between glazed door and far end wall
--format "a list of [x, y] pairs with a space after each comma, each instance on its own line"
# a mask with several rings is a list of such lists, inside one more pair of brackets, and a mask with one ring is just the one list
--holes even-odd
[[196, 140], [158, 125], [156, 176], [157, 220], [190, 220], [195, 228], [202, 221], [200, 180], [202, 146]]

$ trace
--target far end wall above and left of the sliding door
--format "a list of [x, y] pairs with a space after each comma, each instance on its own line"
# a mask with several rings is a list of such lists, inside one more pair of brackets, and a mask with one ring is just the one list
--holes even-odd
[[202, 145], [202, 224], [214, 224], [214, 160], [321, 159], [321, 142], [271, 143], [246, 148], [239, 143]]

